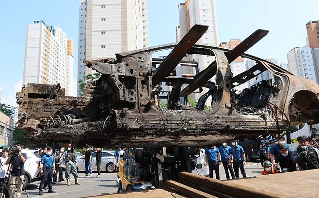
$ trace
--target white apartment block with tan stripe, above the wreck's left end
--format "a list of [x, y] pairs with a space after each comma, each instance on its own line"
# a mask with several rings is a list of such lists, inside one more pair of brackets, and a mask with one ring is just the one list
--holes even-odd
[[65, 93], [72, 93], [67, 82], [73, 80], [73, 75], [69, 79], [67, 70], [73, 70], [73, 65], [67, 64], [67, 36], [62, 29], [47, 26], [44, 21], [28, 24], [23, 85], [60, 83]]

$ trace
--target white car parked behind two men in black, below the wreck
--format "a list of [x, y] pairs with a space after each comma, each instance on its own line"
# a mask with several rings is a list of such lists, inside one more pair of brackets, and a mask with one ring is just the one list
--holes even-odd
[[[80, 153], [80, 152], [79, 152]], [[85, 171], [85, 162], [84, 157], [82, 154], [78, 154], [77, 152], [77, 161], [78, 161], [78, 170]], [[115, 168], [113, 165], [113, 151], [102, 151], [102, 163], [101, 163], [101, 170], [105, 168], [107, 172], [114, 172]], [[92, 152], [92, 170], [96, 169], [96, 151]]]

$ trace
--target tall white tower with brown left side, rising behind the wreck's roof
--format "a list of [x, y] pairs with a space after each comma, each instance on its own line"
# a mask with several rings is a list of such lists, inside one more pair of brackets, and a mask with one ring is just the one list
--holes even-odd
[[[196, 44], [205, 45], [218, 45], [218, 35], [217, 35], [217, 17], [216, 17], [216, 5], [215, 0], [186, 0], [185, 3], [178, 4], [179, 11], [179, 26], [176, 27], [176, 42], [179, 42], [181, 38], [193, 27], [195, 24], [207, 25], [208, 29], [206, 33], [202, 36]], [[183, 60], [195, 60], [199, 64], [199, 70], [202, 71], [207, 68], [207, 66], [215, 60], [215, 57], [211, 56], [201, 56], [192, 55], [184, 58]], [[194, 71], [185, 71], [183, 68], [183, 73], [191, 73]], [[215, 77], [211, 79], [215, 81]], [[208, 91], [207, 88], [203, 88], [202, 93]], [[202, 94], [198, 93], [194, 95], [194, 99], [197, 99]], [[211, 97], [207, 99], [206, 104], [210, 105]]]

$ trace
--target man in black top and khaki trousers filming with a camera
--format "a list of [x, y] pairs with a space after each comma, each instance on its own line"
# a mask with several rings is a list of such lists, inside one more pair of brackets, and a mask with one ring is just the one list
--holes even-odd
[[9, 178], [10, 197], [15, 197], [16, 184], [16, 198], [21, 197], [21, 191], [23, 187], [22, 177], [24, 177], [24, 162], [27, 160], [27, 155], [21, 153], [21, 150], [21, 144], [17, 144], [15, 152], [10, 151], [10, 156], [7, 159], [7, 164], [12, 164], [12, 170]]

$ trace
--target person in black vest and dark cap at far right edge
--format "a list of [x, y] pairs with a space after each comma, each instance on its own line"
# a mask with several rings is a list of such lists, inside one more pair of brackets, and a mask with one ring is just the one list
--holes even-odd
[[299, 170], [318, 169], [318, 149], [309, 145], [307, 136], [299, 136], [297, 138], [299, 146], [291, 154], [293, 163], [297, 163]]

